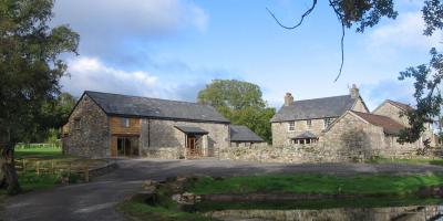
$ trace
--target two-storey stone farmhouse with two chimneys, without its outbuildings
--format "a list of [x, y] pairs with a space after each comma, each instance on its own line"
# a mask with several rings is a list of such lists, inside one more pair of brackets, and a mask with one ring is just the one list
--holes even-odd
[[296, 102], [287, 93], [285, 105], [270, 119], [272, 145], [318, 143], [322, 131], [347, 110], [369, 113], [356, 86], [350, 90], [350, 95]]

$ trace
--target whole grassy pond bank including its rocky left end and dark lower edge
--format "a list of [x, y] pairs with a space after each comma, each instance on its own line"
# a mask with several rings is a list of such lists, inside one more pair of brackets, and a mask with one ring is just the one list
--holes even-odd
[[[358, 200], [317, 199], [282, 202], [212, 202], [203, 201], [195, 206], [179, 207], [171, 197], [177, 193], [176, 183], [161, 185], [156, 190], [158, 201], [155, 206], [144, 202], [124, 201], [119, 210], [138, 220], [210, 220], [202, 212], [239, 209], [332, 209], [332, 208], [374, 208], [439, 204], [442, 199], [422, 199], [416, 191], [427, 186], [442, 186], [443, 175], [266, 175], [250, 177], [189, 179], [179, 192], [196, 194], [247, 194], [247, 193], [323, 193], [362, 194]], [[181, 188], [178, 188], [181, 189]]]

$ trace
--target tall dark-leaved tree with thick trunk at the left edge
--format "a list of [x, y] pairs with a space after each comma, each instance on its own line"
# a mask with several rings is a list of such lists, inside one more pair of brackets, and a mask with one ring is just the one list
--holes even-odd
[[[60, 94], [79, 34], [68, 25], [49, 27], [53, 0], [0, 0], [0, 188], [20, 191], [13, 147], [34, 128], [45, 127], [45, 105]], [[44, 125], [44, 126], [42, 126]]]

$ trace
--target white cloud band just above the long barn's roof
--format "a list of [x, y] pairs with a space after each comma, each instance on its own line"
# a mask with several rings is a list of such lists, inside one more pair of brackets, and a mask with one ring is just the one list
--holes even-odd
[[[62, 91], [80, 96], [84, 91], [97, 91], [146, 97], [195, 102], [206, 80], [161, 78], [145, 71], [128, 72], [104, 64], [100, 59], [79, 56], [68, 62], [70, 76], [61, 80]], [[184, 75], [184, 78], [189, 76]], [[190, 83], [189, 83], [190, 82]]]

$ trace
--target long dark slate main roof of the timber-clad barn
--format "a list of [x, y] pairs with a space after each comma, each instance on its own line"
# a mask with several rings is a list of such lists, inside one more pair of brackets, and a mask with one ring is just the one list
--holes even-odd
[[90, 91], [85, 94], [109, 115], [229, 123], [209, 105]]

